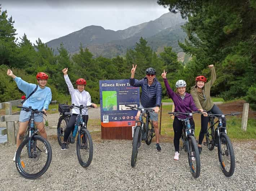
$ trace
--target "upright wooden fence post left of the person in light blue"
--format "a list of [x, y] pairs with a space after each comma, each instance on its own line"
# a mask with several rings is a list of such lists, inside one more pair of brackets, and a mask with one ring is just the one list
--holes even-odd
[[[5, 115], [12, 115], [12, 103], [5, 103]], [[8, 143], [16, 144], [14, 121], [6, 122]]]

